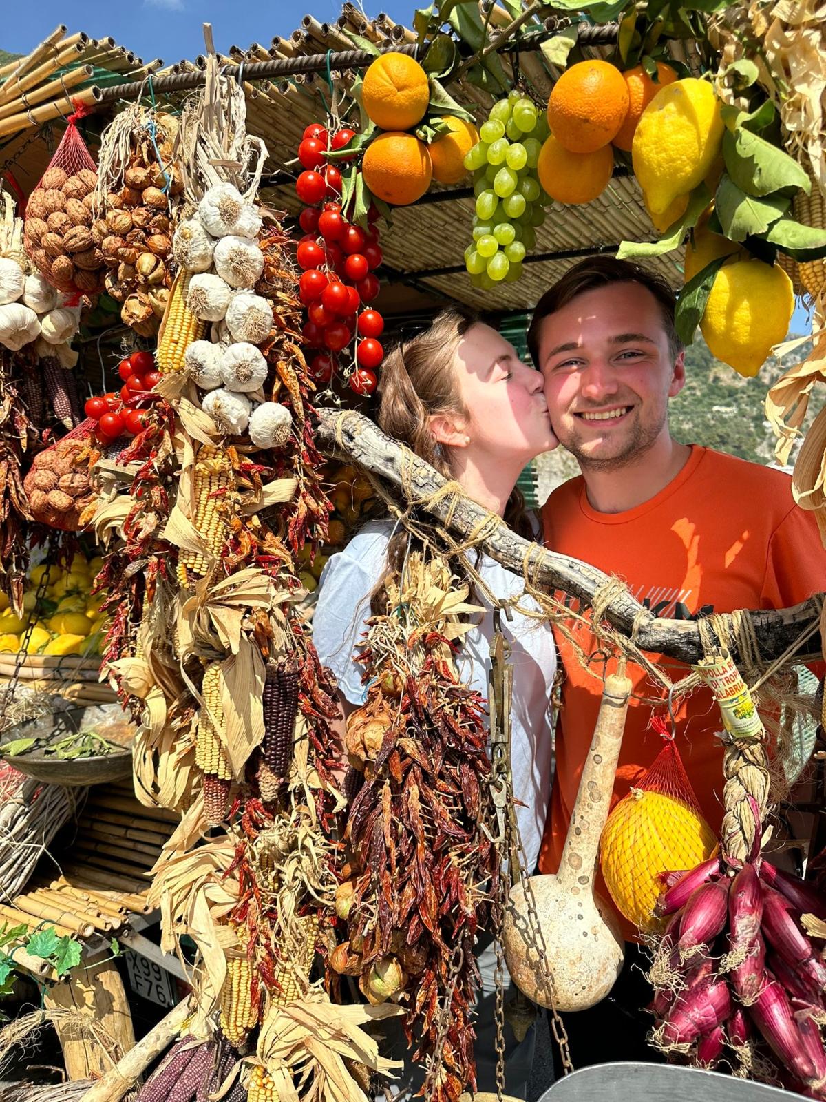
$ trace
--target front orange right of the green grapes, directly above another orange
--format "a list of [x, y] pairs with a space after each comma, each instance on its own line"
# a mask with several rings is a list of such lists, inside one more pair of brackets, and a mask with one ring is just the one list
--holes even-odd
[[617, 134], [628, 114], [628, 86], [608, 62], [578, 62], [554, 85], [547, 122], [572, 153], [594, 153]]

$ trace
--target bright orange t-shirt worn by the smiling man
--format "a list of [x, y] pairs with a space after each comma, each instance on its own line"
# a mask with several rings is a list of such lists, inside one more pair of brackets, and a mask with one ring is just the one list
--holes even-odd
[[[826, 551], [814, 514], [792, 498], [781, 471], [692, 447], [678, 475], [649, 501], [626, 512], [597, 512], [583, 477], [559, 486], [542, 510], [552, 551], [617, 574], [657, 616], [675, 619], [736, 608], [785, 608], [826, 587]], [[586, 653], [595, 650], [587, 625], [577, 628]], [[556, 733], [556, 775], [540, 853], [540, 869], [558, 868], [601, 694], [601, 665], [584, 670], [559, 633], [565, 669]], [[688, 667], [651, 656], [672, 681]], [[599, 659], [596, 659], [599, 663]], [[633, 692], [663, 698], [662, 688], [629, 666]], [[657, 710], [659, 714], [664, 714]], [[632, 700], [620, 752], [613, 802], [649, 768], [662, 738], [648, 730], [651, 707]], [[715, 738], [719, 711], [706, 689], [676, 712], [676, 745], [703, 813], [714, 830], [722, 819], [722, 747]], [[605, 889], [602, 889], [605, 890]]]

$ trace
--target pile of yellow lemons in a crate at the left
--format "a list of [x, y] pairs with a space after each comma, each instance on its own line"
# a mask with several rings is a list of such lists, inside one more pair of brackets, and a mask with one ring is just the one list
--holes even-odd
[[[107, 616], [100, 612], [106, 594], [91, 596], [90, 591], [101, 565], [100, 558], [86, 559], [78, 552], [65, 568], [45, 563], [32, 566], [23, 595], [22, 616], [15, 616], [9, 608], [8, 597], [0, 594], [0, 666], [8, 666], [17, 658], [25, 641], [28, 624], [34, 617], [25, 641], [29, 656], [55, 659], [76, 656], [97, 667], [106, 635]], [[39, 601], [37, 590], [46, 572], [47, 584]]]

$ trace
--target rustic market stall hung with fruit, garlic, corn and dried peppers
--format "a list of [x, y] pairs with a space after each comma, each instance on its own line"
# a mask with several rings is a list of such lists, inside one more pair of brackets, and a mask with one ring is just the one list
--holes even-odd
[[[822, 696], [783, 677], [823, 658], [823, 595], [657, 618], [371, 420], [412, 318], [530, 309], [582, 257], [651, 266], [681, 339], [746, 377], [805, 295], [813, 350], [767, 415], [826, 540], [818, 20], [482, 0], [407, 29], [346, 4], [226, 56], [205, 28], [167, 67], [63, 26], [0, 67], [0, 993], [42, 995], [0, 1068], [53, 1028], [88, 1087], [55, 1100], [362, 1102], [398, 1017], [423, 1093], [457, 1102], [477, 931], [572, 1070], [565, 1014], [609, 994], [620, 914], [651, 948], [653, 1047], [824, 1096], [824, 840], [806, 879], [761, 852], [817, 760]], [[379, 508], [421, 550], [383, 582], [343, 773], [313, 592]], [[557, 626], [575, 598], [605, 656], [576, 877], [525, 865], [506, 648], [489, 709], [459, 677], [472, 548]], [[650, 655], [692, 667], [657, 666], [670, 707], [700, 684], [719, 705], [722, 841], [687, 795], [663, 818], [660, 759], [608, 815]]]

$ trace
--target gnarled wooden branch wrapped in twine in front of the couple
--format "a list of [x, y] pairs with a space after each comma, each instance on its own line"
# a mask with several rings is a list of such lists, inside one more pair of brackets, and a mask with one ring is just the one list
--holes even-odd
[[[432, 498], [445, 485], [445, 479], [428, 463], [410, 452], [403, 453], [394, 440], [360, 413], [320, 410], [316, 443], [329, 455], [357, 463], [393, 486], [400, 496], [403, 455], [404, 479], [415, 498]], [[457, 500], [454, 495], [435, 498], [427, 508], [443, 525], [449, 518], [449, 531], [457, 541], [468, 539], [488, 516], [487, 510], [476, 501], [468, 497]], [[593, 604], [597, 591], [608, 581], [608, 575], [595, 566], [529, 543], [504, 523], [482, 540], [481, 549], [517, 574], [526, 568], [536, 584], [548, 593], [561, 590], [587, 606]], [[792, 608], [751, 612], [763, 660], [769, 663], [785, 653], [808, 627], [817, 624], [819, 614], [817, 597]], [[703, 657], [699, 628], [695, 620], [659, 619], [628, 592], [618, 594], [609, 602], [605, 618], [628, 638], [635, 624], [633, 638], [641, 650], [688, 663], [697, 662]], [[732, 649], [736, 658], [737, 648]], [[817, 644], [809, 642], [805, 652], [816, 653]]]

